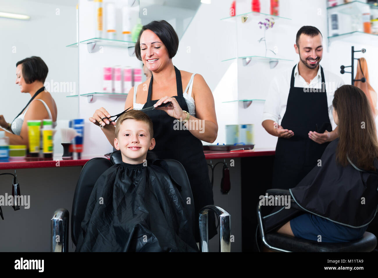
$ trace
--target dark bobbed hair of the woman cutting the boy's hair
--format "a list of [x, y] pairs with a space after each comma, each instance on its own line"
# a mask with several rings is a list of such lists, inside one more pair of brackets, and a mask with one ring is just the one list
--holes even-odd
[[138, 60], [142, 61], [140, 40], [141, 35], [145, 30], [151, 30], [156, 34], [156, 36], [159, 37], [161, 42], [164, 43], [165, 47], [167, 48], [170, 59], [172, 59], [176, 55], [178, 49], [178, 36], [176, 31], [173, 29], [172, 25], [170, 25], [165, 20], [154, 20], [147, 25], [144, 25], [141, 32], [139, 33], [138, 40], [135, 44], [135, 55]]

